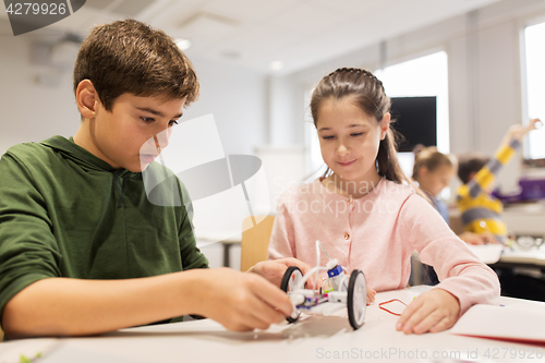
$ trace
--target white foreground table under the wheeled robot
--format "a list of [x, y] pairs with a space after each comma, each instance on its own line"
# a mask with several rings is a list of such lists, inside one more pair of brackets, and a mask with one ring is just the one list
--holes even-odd
[[[393, 298], [409, 303], [428, 289], [378, 293], [376, 302], [367, 306], [364, 325], [355, 331], [346, 316], [313, 315], [295, 324], [251, 332], [228, 331], [214, 320], [203, 319], [97, 337], [10, 341], [0, 344], [0, 362], [37, 351], [44, 354], [39, 363], [545, 362], [545, 346], [457, 336], [449, 330], [404, 335], [395, 329], [398, 317], [378, 308], [379, 302]], [[501, 298], [501, 303], [526, 304], [545, 312], [545, 303], [511, 298]], [[400, 306], [389, 307], [396, 312]], [[512, 359], [512, 353], [520, 355]]]

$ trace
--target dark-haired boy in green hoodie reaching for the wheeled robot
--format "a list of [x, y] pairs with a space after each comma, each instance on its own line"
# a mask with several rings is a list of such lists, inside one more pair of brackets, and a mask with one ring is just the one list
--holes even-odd
[[77, 56], [74, 93], [82, 123], [73, 138], [16, 145], [0, 160], [7, 337], [94, 335], [186, 314], [247, 330], [289, 316], [279, 280], [288, 265], [308, 266], [207, 269], [183, 184], [159, 185], [171, 206], [146, 195], [142, 172], [172, 176], [153, 160], [198, 96], [172, 38], [133, 20], [95, 27]]

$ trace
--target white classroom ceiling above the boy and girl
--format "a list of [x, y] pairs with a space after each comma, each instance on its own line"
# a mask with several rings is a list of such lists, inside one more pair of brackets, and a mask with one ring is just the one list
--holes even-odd
[[190, 39], [190, 58], [287, 74], [497, 1], [87, 0], [49, 31], [85, 34], [130, 16]]

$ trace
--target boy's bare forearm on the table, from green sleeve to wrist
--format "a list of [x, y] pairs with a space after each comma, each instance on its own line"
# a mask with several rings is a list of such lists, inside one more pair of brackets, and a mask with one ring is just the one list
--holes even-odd
[[199, 314], [195, 287], [203, 273], [128, 280], [39, 280], [5, 304], [2, 325], [9, 338], [82, 336]]

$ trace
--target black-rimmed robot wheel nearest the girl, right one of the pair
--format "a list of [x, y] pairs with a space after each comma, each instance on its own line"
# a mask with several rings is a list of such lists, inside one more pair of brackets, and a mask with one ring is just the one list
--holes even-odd
[[363, 325], [366, 307], [367, 283], [365, 276], [361, 270], [354, 269], [350, 275], [347, 297], [348, 320], [354, 330]]

